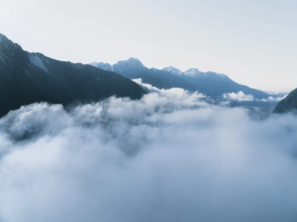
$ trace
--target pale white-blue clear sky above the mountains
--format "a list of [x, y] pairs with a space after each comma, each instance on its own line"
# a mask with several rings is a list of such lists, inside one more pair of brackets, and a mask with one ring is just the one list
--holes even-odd
[[54, 59], [135, 57], [261, 90], [297, 87], [296, 0], [0, 0], [0, 21], [24, 50]]

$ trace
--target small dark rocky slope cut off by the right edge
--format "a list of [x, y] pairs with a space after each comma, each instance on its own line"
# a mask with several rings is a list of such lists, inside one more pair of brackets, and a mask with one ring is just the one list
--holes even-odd
[[297, 109], [297, 88], [294, 89], [285, 99], [282, 99], [274, 108], [275, 113], [290, 112]]

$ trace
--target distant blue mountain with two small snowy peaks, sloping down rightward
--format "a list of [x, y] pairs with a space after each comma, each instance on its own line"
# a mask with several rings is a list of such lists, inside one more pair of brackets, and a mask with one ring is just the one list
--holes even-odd
[[[173, 75], [181, 72], [173, 66], [170, 66], [170, 68], [165, 67], [163, 70], [168, 70], [168, 72], [172, 73]], [[181, 73], [183, 73], [179, 74], [181, 78], [191, 83], [195, 89], [203, 94], [206, 94], [207, 96], [218, 97], [222, 94], [231, 92], [237, 93], [239, 91], [243, 91], [244, 94], [251, 94], [256, 99], [267, 99], [269, 96], [271, 96], [266, 92], [238, 84], [224, 74], [215, 72], [204, 73], [196, 68], [190, 68], [187, 71]]]

